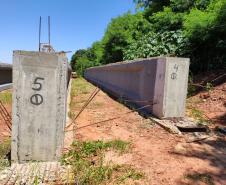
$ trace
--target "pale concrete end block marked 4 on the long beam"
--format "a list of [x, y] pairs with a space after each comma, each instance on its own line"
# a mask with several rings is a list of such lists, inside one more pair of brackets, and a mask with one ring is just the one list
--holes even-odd
[[184, 117], [187, 98], [189, 59], [159, 60], [154, 86], [153, 114], [159, 118]]

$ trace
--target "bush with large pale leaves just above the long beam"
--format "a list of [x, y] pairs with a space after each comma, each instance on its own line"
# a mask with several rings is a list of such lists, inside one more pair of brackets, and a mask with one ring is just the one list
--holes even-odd
[[186, 40], [182, 31], [150, 32], [124, 50], [124, 60], [154, 56], [180, 56]]

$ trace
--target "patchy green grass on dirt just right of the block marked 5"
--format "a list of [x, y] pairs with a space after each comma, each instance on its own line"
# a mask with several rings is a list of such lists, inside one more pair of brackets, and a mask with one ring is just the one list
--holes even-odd
[[[83, 78], [72, 81], [71, 104], [69, 113], [74, 118], [77, 111], [87, 101], [95, 86], [87, 83]], [[88, 108], [103, 106], [101, 102], [91, 102]], [[119, 155], [129, 152], [131, 144], [122, 140], [111, 141], [75, 141], [68, 153], [62, 157], [62, 164], [69, 165], [72, 173], [67, 174], [67, 184], [101, 185], [122, 184], [128, 179], [139, 180], [144, 174], [130, 165], [106, 164], [105, 152], [115, 151]]]

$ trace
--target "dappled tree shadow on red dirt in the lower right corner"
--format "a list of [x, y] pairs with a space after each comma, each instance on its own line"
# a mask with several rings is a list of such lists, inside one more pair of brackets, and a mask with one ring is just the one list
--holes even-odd
[[[215, 137], [215, 136], [214, 136]], [[212, 169], [188, 171], [178, 184], [226, 184], [226, 137], [216, 136], [197, 143], [186, 143], [186, 153], [175, 154], [208, 161]], [[201, 166], [200, 166], [201, 168]], [[214, 169], [214, 170], [213, 170]]]

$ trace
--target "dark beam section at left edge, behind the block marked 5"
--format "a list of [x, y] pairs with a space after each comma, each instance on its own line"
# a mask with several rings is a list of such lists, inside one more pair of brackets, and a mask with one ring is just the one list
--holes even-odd
[[12, 65], [0, 63], [0, 85], [12, 83]]

